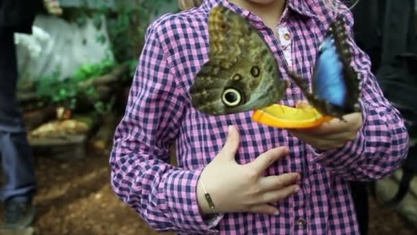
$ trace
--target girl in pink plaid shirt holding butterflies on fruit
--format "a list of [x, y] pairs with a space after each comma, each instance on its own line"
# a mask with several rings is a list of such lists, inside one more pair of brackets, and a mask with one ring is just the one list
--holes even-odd
[[[348, 180], [380, 179], [407, 154], [398, 111], [383, 98], [368, 56], [350, 40], [363, 81], [361, 113], [304, 131], [252, 122], [252, 112], [209, 116], [191, 107], [189, 87], [208, 60], [216, 5], [263, 34], [281, 75], [311, 77], [322, 40], [346, 9], [324, 0], [204, 0], [150, 25], [126, 114], [111, 153], [112, 186], [158, 231], [180, 234], [359, 234]], [[286, 62], [286, 63], [284, 63]], [[294, 82], [284, 104], [302, 92]], [[226, 138], [227, 136], [227, 138]], [[169, 164], [176, 142], [178, 167]], [[208, 196], [208, 197], [205, 197]]]

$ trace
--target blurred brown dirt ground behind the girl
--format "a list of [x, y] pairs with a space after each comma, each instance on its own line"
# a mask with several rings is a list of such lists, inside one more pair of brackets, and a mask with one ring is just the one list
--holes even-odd
[[[72, 161], [36, 156], [36, 173], [35, 234], [157, 234], [115, 197], [108, 153]], [[370, 234], [416, 234], [398, 214], [371, 203]]]

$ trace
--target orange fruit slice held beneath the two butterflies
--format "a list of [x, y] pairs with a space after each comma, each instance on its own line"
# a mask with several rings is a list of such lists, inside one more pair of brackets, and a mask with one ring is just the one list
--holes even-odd
[[255, 110], [252, 120], [278, 128], [311, 128], [333, 119], [313, 108], [293, 108], [281, 104]]

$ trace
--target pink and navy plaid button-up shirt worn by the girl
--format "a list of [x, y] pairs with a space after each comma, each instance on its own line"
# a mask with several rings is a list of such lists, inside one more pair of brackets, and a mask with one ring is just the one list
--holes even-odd
[[[318, 43], [335, 19], [321, 0], [288, 0], [276, 27], [279, 38], [258, 16], [226, 0], [206, 0], [200, 8], [165, 14], [150, 25], [136, 69], [126, 113], [111, 153], [112, 186], [125, 203], [158, 231], [180, 234], [359, 234], [348, 180], [370, 181], [389, 175], [407, 155], [408, 135], [398, 111], [383, 97], [370, 72], [370, 60], [353, 41], [353, 67], [364, 80], [364, 126], [344, 147], [316, 153], [286, 130], [252, 122], [252, 112], [208, 116], [193, 109], [188, 89], [208, 60], [208, 14], [214, 5], [246, 17], [261, 32], [279, 62], [310, 78]], [[344, 15], [351, 32], [353, 17]], [[285, 37], [282, 34], [288, 33]], [[294, 82], [282, 104], [305, 99]], [[240, 164], [276, 146], [288, 157], [266, 175], [300, 172], [298, 194], [275, 203], [281, 214], [220, 214], [204, 221], [196, 197], [198, 177], [222, 148], [228, 125], [241, 133]], [[176, 142], [178, 167], [169, 164]], [[228, 172], [224, 172], [227, 175]], [[242, 190], [245, 190], [242, 188]]]

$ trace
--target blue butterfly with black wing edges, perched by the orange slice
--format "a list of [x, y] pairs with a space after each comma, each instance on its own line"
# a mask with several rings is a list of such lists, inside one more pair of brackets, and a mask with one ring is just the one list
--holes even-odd
[[361, 80], [350, 67], [351, 53], [347, 39], [344, 21], [337, 17], [319, 47], [313, 70], [312, 92], [304, 79], [290, 72], [290, 76], [307, 96], [309, 104], [322, 115], [331, 115], [340, 120], [344, 120], [344, 115], [361, 109]]

